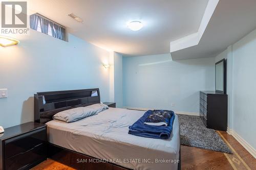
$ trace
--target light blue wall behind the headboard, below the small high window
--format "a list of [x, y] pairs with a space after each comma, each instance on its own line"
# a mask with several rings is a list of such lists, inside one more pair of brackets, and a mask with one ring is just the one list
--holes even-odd
[[15, 37], [19, 45], [0, 47], [0, 126], [33, 121], [33, 95], [38, 91], [100, 88], [101, 101], [110, 101], [110, 53], [75, 36], [69, 42], [30, 31]]

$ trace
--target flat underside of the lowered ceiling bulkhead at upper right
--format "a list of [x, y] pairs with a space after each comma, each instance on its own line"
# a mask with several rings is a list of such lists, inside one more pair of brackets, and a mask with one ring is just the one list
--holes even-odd
[[215, 57], [256, 28], [255, 0], [220, 0], [198, 45], [172, 52], [173, 60]]

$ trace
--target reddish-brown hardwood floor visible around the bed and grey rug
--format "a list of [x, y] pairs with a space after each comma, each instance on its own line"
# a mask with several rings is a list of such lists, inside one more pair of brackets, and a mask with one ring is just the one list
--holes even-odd
[[[229, 145], [233, 154], [209, 151], [194, 147], [181, 146], [181, 169], [217, 169], [217, 170], [254, 170], [256, 159], [248, 153], [242, 145], [231, 135], [223, 131], [217, 133]], [[51, 159], [35, 166], [33, 170], [73, 170], [74, 168], [63, 165]]]

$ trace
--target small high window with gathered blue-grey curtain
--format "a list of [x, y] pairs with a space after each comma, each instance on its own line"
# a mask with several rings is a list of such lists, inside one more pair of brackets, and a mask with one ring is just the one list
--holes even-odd
[[65, 41], [65, 27], [38, 13], [30, 15], [30, 28]]

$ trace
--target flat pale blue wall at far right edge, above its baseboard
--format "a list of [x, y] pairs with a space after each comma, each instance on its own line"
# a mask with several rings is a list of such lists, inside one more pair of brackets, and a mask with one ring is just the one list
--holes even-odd
[[256, 158], [256, 30], [232, 48], [233, 130], [250, 144]]

